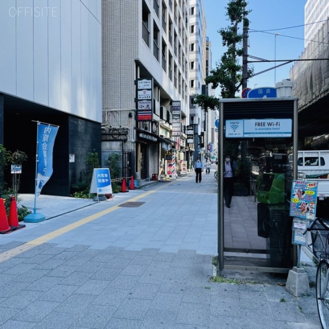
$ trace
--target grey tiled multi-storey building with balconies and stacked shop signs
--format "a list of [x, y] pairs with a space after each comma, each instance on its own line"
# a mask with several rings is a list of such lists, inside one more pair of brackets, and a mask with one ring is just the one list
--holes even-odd
[[168, 173], [166, 152], [185, 151], [188, 8], [188, 0], [102, 1], [102, 160], [121, 154], [123, 177]]

